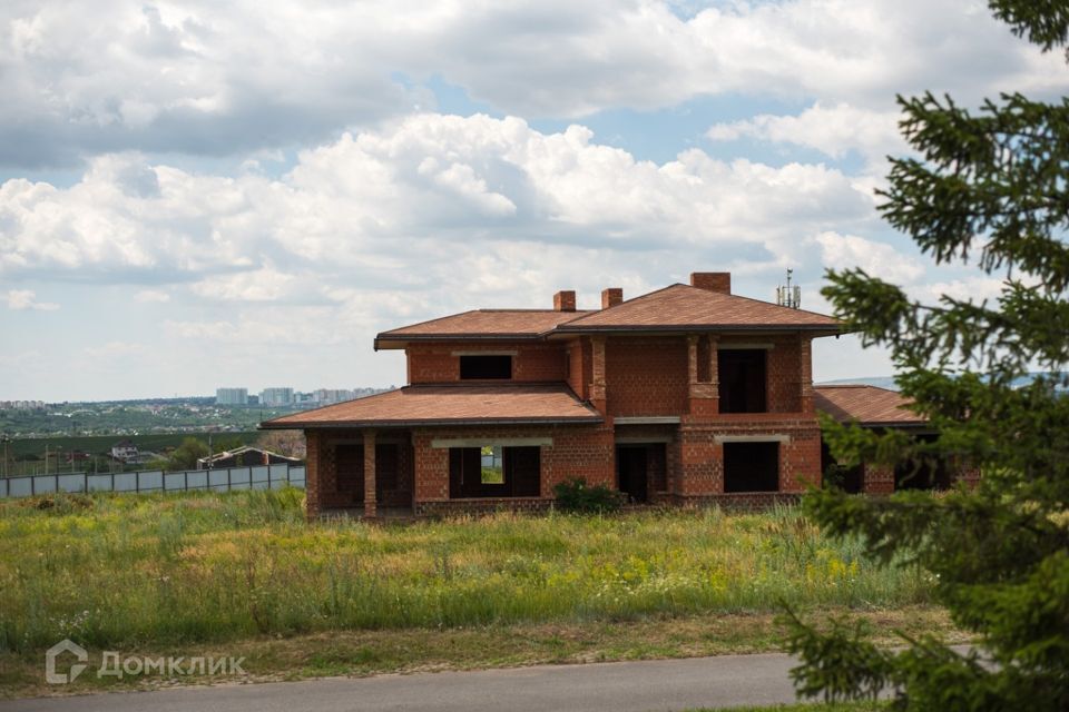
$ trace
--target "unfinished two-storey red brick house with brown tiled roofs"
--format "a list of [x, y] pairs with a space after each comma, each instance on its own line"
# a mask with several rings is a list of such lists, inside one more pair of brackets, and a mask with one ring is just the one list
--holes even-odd
[[735, 296], [727, 273], [628, 300], [609, 288], [601, 306], [560, 291], [552, 309], [382, 333], [375, 348], [404, 349], [409, 385], [262, 427], [304, 431], [310, 516], [537, 510], [572, 477], [634, 502], [725, 506], [820, 482], [811, 343], [838, 322]]

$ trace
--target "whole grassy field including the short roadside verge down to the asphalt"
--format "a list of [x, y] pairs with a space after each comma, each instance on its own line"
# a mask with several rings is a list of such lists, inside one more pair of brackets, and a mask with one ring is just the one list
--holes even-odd
[[794, 510], [501, 513], [307, 524], [303, 492], [0, 501], [0, 696], [146, 689], [43, 652], [238, 655], [243, 681], [778, 650], [781, 602], [881, 644], [968, 639], [915, 568], [877, 568]]

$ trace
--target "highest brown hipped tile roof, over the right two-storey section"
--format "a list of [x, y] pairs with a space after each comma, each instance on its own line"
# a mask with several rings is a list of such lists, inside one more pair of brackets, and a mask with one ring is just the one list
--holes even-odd
[[768, 328], [813, 329], [837, 334], [841, 323], [830, 316], [791, 309], [687, 285], [671, 285], [557, 327], [558, 333], [598, 330]]

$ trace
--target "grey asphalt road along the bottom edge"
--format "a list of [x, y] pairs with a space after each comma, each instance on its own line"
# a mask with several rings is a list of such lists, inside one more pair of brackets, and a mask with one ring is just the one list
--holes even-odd
[[781, 654], [720, 655], [17, 700], [0, 710], [648, 712], [793, 702], [793, 665]]

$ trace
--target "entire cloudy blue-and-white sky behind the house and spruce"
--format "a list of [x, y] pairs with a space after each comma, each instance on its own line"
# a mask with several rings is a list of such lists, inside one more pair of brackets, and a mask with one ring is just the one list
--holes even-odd
[[380, 330], [694, 270], [990, 294], [877, 218], [894, 96], [1067, 80], [979, 0], [6, 0], [0, 399], [401, 384]]

